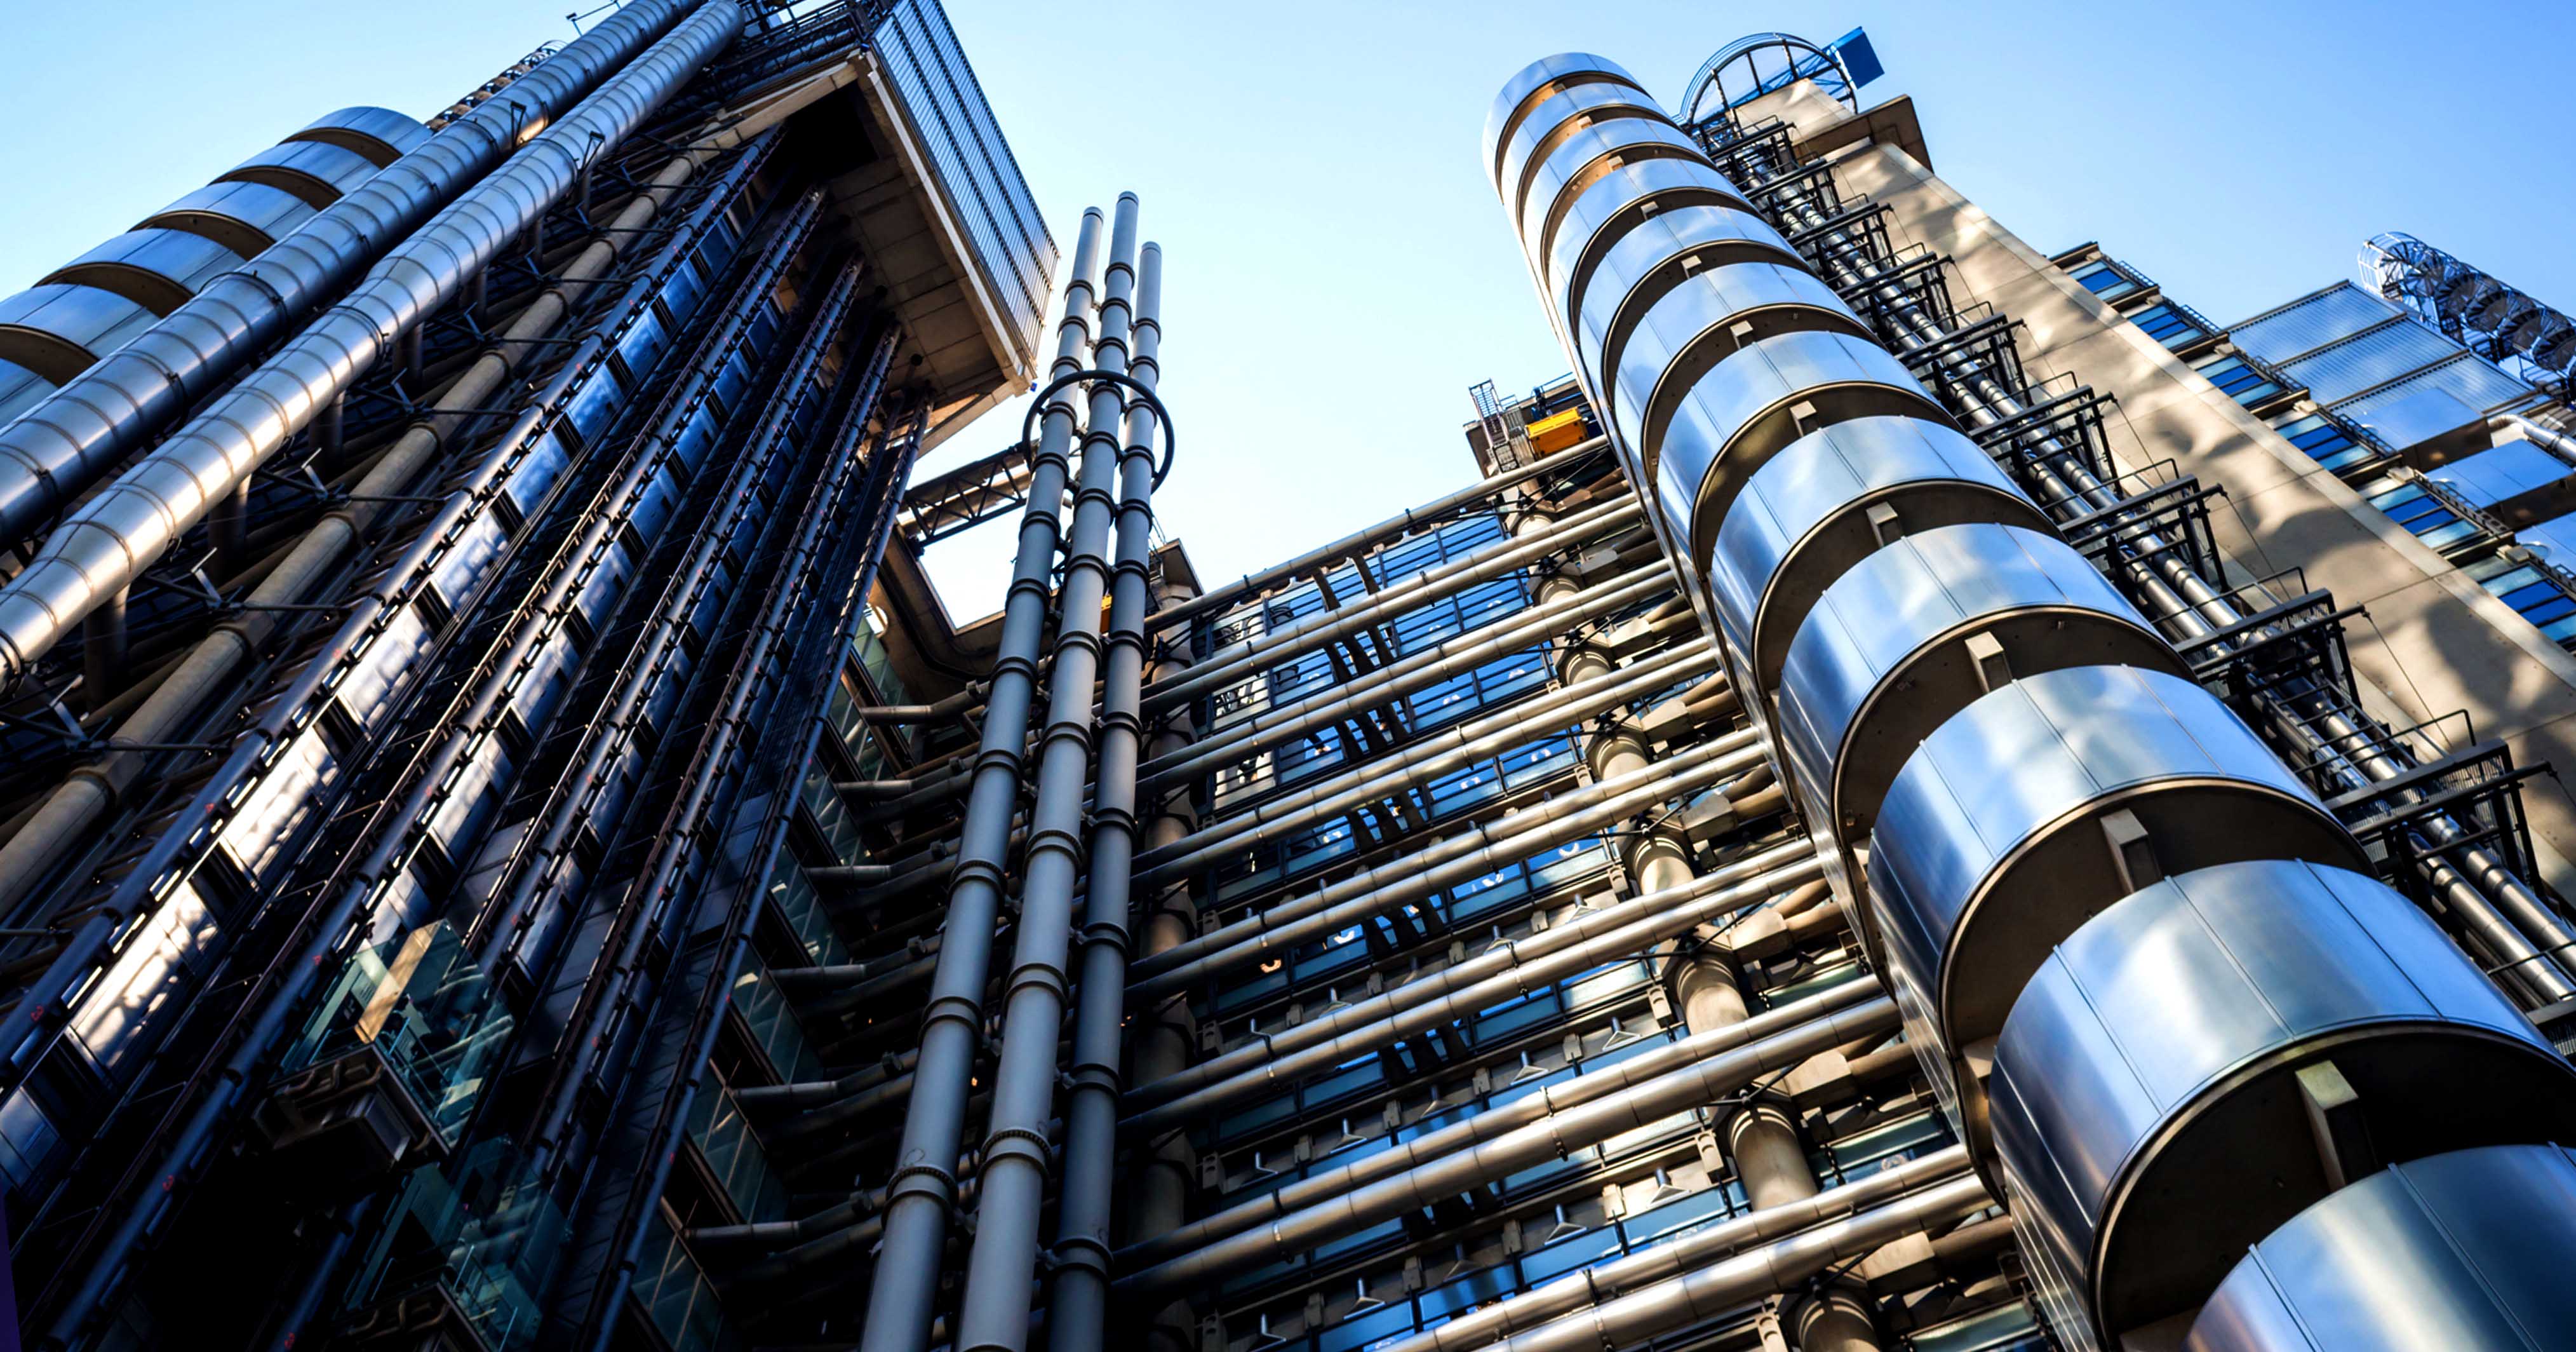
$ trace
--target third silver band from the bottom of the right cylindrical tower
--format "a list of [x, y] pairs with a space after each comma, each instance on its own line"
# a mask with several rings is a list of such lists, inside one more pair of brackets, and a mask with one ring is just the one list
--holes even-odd
[[[2367, 870], [2352, 834], [2184, 677], [2069, 667], [1945, 721], [1870, 832], [1873, 922], [1906, 1038], [1953, 1092], [2048, 950], [2141, 886], [2236, 860]], [[1976, 1084], [1945, 1107], [1981, 1136]]]

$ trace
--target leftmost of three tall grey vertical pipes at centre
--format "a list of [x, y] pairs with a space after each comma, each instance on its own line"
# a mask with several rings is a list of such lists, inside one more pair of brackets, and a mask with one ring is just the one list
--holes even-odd
[[[1064, 286], [1064, 319], [1056, 324], [1056, 361], [1048, 379], [1087, 368], [1097, 255], [1100, 209], [1092, 209], [1082, 214], [1082, 234], [1074, 242], [1074, 270]], [[886, 1231], [868, 1282], [863, 1352], [922, 1352], [930, 1344], [940, 1254], [948, 1246], [948, 1218], [958, 1195], [956, 1161], [966, 1141], [966, 1092], [984, 1035], [984, 979], [1002, 912], [1002, 860], [1010, 852], [1010, 819], [1020, 798], [1020, 749], [1028, 742], [1038, 641], [1046, 634], [1048, 574], [1056, 561], [1072, 438], [1074, 404], [1066, 391], [1046, 407], [1038, 451], [1030, 456], [1028, 510], [1020, 515], [1020, 549], [1002, 603], [1002, 641], [992, 664], [992, 693], [984, 700], [984, 737], [966, 791], [966, 819], [958, 829], [940, 963], [930, 979], [930, 1007], [922, 1012], [922, 1048], [912, 1100], [904, 1105], [904, 1138], [894, 1179], [886, 1185]]]

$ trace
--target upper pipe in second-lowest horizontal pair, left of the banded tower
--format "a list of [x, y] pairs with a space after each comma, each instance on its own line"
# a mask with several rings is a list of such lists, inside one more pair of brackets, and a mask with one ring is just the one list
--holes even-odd
[[[1427, 1164], [1450, 1151], [1461, 1151], [1466, 1146], [1473, 1146], [1476, 1141], [1502, 1136], [1504, 1131], [1530, 1125], [1540, 1118], [1564, 1113], [1569, 1107], [1582, 1107], [1592, 1100], [1643, 1084], [1672, 1069], [1705, 1061], [1723, 1051], [1736, 1051], [1757, 1038], [1785, 1033], [1790, 1028], [1803, 1025], [1806, 1020], [1814, 1020], [1819, 1015], [1832, 1015], [1834, 1009], [1847, 1009], [1868, 999], [1883, 999], [1878, 994], [1875, 981], [1844, 981], [1839, 986], [1816, 991], [1806, 999], [1795, 999], [1775, 1009], [1762, 1009], [1759, 1015], [1744, 1022], [1710, 1028], [1708, 1033], [1695, 1033], [1677, 1043], [1667, 1043], [1654, 1051], [1631, 1056], [1610, 1066], [1607, 1071], [1579, 1074], [1561, 1084], [1546, 1084], [1535, 1094], [1522, 1094], [1510, 1102], [1486, 1105], [1484, 1113], [1476, 1113], [1463, 1123], [1450, 1123], [1440, 1131], [1396, 1141], [1350, 1164], [1337, 1164], [1332, 1169], [1306, 1174], [1303, 1179], [1296, 1179], [1285, 1187], [1273, 1187], [1260, 1197], [1252, 1197], [1249, 1203], [1236, 1203], [1226, 1210], [1218, 1210], [1216, 1216], [1180, 1226], [1177, 1231], [1164, 1231], [1154, 1239], [1128, 1244], [1126, 1249], [1118, 1249], [1118, 1267], [1139, 1270], [1146, 1264], [1167, 1262], [1172, 1257], [1185, 1254], [1188, 1249], [1198, 1249], [1200, 1244], [1213, 1244], [1218, 1239], [1244, 1234], [1267, 1221], [1278, 1221], [1291, 1210], [1316, 1205], [1337, 1192], [1347, 1192], [1352, 1187], [1401, 1174], [1404, 1169]], [[1906, 1056], [1911, 1056], [1911, 1051], [1906, 1051]]]

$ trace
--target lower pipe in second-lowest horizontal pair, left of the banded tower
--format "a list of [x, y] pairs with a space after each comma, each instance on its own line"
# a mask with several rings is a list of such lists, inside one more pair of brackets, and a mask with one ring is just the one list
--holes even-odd
[[[1814, 1017], [1788, 1033], [1631, 1084], [1579, 1107], [1551, 1113], [1473, 1146], [1443, 1154], [1324, 1203], [1293, 1210], [1262, 1228], [1203, 1244], [1182, 1257], [1118, 1277], [1128, 1298], [1164, 1295], [1218, 1282], [1234, 1272], [1301, 1254], [1391, 1216], [1430, 1208], [1471, 1187], [1535, 1169], [1569, 1151], [1654, 1125], [1674, 1113], [1708, 1107], [1754, 1076], [1785, 1071], [1819, 1051], [1862, 1033], [1896, 1028], [1896, 1002], [1875, 997], [1850, 1009]], [[1610, 1347], [1610, 1344], [1602, 1344]]]

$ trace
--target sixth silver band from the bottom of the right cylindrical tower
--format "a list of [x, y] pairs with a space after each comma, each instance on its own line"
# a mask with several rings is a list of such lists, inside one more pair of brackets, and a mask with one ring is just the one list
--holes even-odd
[[1641, 430], [1638, 456], [1672, 536], [1690, 546], [1687, 559], [1698, 569], [1744, 482], [1788, 443], [1832, 422], [1886, 415], [1950, 425], [1950, 415], [1878, 343], [1842, 332], [1783, 332], [1736, 348], [1700, 376], [1669, 422]]

